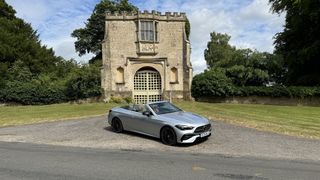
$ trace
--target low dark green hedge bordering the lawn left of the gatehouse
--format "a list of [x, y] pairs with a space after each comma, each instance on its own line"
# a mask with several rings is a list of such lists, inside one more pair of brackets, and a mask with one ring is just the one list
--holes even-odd
[[70, 82], [74, 84], [67, 83], [67, 86], [65, 86], [59, 85], [59, 83], [44, 85], [34, 83], [33, 81], [8, 82], [5, 87], [0, 89], [0, 103], [17, 103], [23, 105], [54, 104], [101, 96], [100, 86], [96, 86], [96, 83], [92, 81]]

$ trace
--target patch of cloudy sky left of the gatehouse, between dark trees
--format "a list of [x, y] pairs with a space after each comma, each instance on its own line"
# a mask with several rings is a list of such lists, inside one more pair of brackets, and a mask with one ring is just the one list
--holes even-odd
[[98, 0], [11, 0], [17, 16], [31, 23], [41, 42], [65, 59], [88, 61], [93, 55], [79, 57], [71, 38], [74, 29], [84, 27]]

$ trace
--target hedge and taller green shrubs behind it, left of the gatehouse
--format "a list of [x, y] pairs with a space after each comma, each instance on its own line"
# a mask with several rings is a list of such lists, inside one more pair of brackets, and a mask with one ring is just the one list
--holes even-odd
[[65, 61], [54, 73], [32, 76], [19, 64], [18, 61], [9, 70], [11, 80], [0, 89], [0, 102], [52, 104], [101, 95], [98, 66]]

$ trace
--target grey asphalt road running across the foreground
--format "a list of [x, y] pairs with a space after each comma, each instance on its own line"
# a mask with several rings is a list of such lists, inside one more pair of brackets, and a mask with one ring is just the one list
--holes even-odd
[[0, 142], [0, 179], [318, 179], [320, 163]]

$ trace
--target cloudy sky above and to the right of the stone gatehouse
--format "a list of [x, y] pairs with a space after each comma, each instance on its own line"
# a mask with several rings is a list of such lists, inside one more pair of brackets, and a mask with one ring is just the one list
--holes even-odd
[[[227, 33], [230, 44], [238, 48], [252, 48], [272, 52], [273, 36], [282, 30], [284, 16], [270, 12], [266, 0], [184, 0], [157, 1], [160, 11], [183, 11], [191, 23], [191, 61], [194, 73], [206, 68], [204, 50], [210, 32]], [[145, 5], [145, 6], [144, 6]], [[139, 5], [148, 9], [148, 3]], [[152, 10], [152, 9], [148, 9]]]

